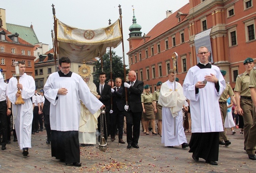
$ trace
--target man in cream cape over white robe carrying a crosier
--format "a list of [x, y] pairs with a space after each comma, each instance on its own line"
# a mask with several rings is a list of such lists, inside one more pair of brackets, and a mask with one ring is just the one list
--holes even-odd
[[[174, 70], [169, 70], [169, 80], [162, 84], [158, 103], [162, 105], [162, 143], [172, 148], [182, 145], [188, 147], [187, 139], [182, 125], [182, 107], [186, 100], [182, 86], [174, 82]], [[176, 91], [174, 91], [174, 83]]]

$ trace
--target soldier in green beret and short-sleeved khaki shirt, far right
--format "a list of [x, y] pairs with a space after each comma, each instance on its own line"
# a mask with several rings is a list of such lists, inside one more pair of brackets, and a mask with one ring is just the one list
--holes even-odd
[[251, 98], [250, 88], [248, 87], [250, 73], [254, 67], [253, 59], [246, 58], [244, 67], [245, 72], [237, 76], [234, 91], [236, 91], [237, 113], [242, 115], [244, 119], [244, 150], [246, 150], [249, 131], [253, 126], [253, 100]]

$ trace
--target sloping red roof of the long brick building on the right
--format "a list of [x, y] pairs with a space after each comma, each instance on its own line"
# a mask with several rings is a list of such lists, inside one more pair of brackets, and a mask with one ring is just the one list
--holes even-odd
[[[189, 13], [189, 3], [187, 3], [186, 5], [184, 5], [182, 8], [180, 8], [180, 10], [177, 10], [176, 12], [174, 12], [173, 14], [171, 14], [168, 18], [163, 19], [162, 21], [160, 21], [158, 24], [156, 24], [156, 26], [154, 28], [152, 28], [146, 35], [149, 36], [151, 35], [151, 37], [144, 42], [144, 40], [142, 40], [136, 47], [134, 47], [132, 50], [130, 50], [129, 52], [133, 51], [134, 49], [142, 46], [143, 44], [146, 44], [147, 42], [155, 39], [156, 37], [158, 37], [159, 35], [165, 33], [166, 31], [174, 28], [175, 26], [183, 23], [184, 21], [186, 21], [187, 19], [184, 18], [182, 21], [178, 22], [178, 19], [176, 18], [176, 14], [178, 12], [181, 12], [183, 14], [188, 14]], [[128, 52], [128, 53], [129, 53]]]

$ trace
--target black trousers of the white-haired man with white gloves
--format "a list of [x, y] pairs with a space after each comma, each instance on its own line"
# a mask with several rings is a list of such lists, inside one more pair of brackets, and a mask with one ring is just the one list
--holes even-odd
[[125, 111], [126, 117], [126, 137], [128, 144], [138, 144], [140, 137], [140, 120], [142, 112]]

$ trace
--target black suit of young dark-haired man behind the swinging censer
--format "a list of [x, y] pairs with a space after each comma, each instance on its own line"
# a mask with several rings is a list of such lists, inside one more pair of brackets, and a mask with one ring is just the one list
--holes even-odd
[[[105, 105], [106, 109], [105, 109], [105, 117], [106, 117], [106, 122], [105, 122], [105, 117], [104, 117], [104, 138], [107, 141], [108, 139], [108, 135], [110, 133], [110, 128], [111, 128], [111, 117], [109, 115], [109, 111], [110, 111], [110, 99], [112, 97], [112, 92], [111, 92], [111, 86], [104, 84], [102, 93], [100, 93], [100, 84], [96, 86], [97, 87], [97, 92], [98, 95], [100, 95], [100, 101]], [[101, 119], [100, 116], [98, 117], [98, 131], [100, 132], [100, 123], [101, 123]], [[107, 131], [105, 128], [105, 125], [107, 126]], [[108, 133], [108, 134], [107, 134]], [[100, 136], [98, 138], [99, 142], [100, 142]]]

